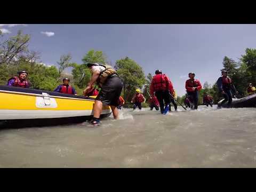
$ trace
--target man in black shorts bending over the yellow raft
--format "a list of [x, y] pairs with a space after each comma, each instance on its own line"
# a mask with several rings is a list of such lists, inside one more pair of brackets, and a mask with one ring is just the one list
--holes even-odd
[[111, 107], [113, 116], [118, 119], [118, 100], [123, 89], [123, 83], [117, 76], [116, 70], [108, 65], [100, 65], [98, 63], [88, 63], [87, 66], [91, 70], [92, 77], [87, 84], [84, 94], [93, 89], [93, 84], [97, 83], [101, 88], [99, 94], [95, 98], [93, 106], [93, 118], [90, 121], [92, 125], [99, 125], [100, 114], [103, 103]]

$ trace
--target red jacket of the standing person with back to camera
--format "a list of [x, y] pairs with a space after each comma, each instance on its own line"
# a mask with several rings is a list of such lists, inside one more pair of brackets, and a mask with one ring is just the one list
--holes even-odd
[[173, 95], [172, 82], [165, 74], [157, 74], [152, 79], [150, 85], [150, 94], [154, 95], [154, 92], [159, 90], [169, 90]]

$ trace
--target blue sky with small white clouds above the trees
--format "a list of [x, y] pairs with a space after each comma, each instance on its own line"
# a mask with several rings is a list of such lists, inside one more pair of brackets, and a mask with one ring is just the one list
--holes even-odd
[[[162, 69], [178, 95], [185, 94], [188, 73], [213, 84], [225, 55], [236, 61], [246, 47], [256, 47], [256, 25], [3, 25], [6, 37], [18, 29], [31, 35], [29, 48], [41, 61], [56, 65], [60, 55], [82, 63], [90, 49], [103, 51], [111, 63], [130, 57], [145, 72]], [[7, 34], [9, 32], [9, 34]], [[50, 33], [49, 33], [50, 32]], [[53, 34], [54, 33], [54, 34]]]

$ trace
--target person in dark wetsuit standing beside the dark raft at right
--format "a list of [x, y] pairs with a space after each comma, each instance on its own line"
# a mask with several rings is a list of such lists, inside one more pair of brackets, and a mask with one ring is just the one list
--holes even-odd
[[221, 106], [228, 101], [228, 108], [231, 107], [232, 103], [232, 93], [231, 91], [234, 91], [236, 94], [238, 94], [238, 91], [236, 90], [236, 87], [234, 86], [232, 80], [230, 77], [228, 77], [228, 71], [222, 70], [221, 71], [221, 77], [218, 78], [217, 85], [219, 91], [222, 93], [224, 100], [221, 102]]

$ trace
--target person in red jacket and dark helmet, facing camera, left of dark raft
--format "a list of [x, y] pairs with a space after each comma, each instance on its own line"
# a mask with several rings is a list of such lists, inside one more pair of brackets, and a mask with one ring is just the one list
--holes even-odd
[[188, 97], [193, 100], [194, 109], [197, 109], [198, 105], [198, 93], [202, 89], [202, 85], [198, 79], [195, 79], [194, 73], [189, 73], [189, 79], [186, 81], [185, 87], [188, 93]]

